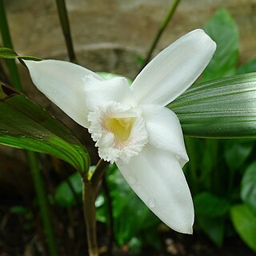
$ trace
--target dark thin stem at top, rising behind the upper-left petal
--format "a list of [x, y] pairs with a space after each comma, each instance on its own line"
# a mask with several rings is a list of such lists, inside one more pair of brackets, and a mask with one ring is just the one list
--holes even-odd
[[70, 62], [77, 62], [74, 54], [74, 47], [70, 33], [70, 22], [66, 11], [65, 0], [56, 0], [56, 4], [58, 8], [58, 18], [61, 22], [62, 33], [65, 38], [66, 49], [69, 54]]

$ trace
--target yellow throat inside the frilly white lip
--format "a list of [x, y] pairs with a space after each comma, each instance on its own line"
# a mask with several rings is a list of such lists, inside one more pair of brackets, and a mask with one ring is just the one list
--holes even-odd
[[126, 142], [130, 137], [134, 121], [135, 118], [107, 118], [105, 127], [119, 142]]

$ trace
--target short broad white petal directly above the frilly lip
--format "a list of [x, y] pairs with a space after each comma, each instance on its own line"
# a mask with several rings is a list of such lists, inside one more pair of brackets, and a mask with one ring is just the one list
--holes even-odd
[[88, 108], [102, 105], [105, 102], [121, 102], [129, 106], [136, 106], [134, 93], [130, 90], [129, 83], [126, 78], [115, 77], [109, 80], [98, 80], [90, 76], [84, 78], [83, 91], [86, 97]]

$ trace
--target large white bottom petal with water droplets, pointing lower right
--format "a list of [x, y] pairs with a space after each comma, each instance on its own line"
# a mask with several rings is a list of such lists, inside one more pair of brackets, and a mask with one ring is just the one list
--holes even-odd
[[119, 170], [136, 194], [170, 228], [192, 233], [194, 207], [178, 160], [166, 150], [147, 145]]

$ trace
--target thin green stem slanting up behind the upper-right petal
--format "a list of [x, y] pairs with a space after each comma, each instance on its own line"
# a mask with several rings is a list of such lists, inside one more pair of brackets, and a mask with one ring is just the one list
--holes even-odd
[[164, 30], [166, 30], [166, 26], [169, 24], [171, 18], [173, 18], [174, 12], [175, 12], [179, 2], [180, 2], [180, 0], [174, 0], [172, 5], [170, 6], [170, 9], [167, 11], [166, 16], [163, 18], [163, 20], [158, 28], [158, 32], [154, 38], [154, 41], [150, 47], [150, 50], [148, 51], [148, 54], [146, 55], [146, 58], [142, 64], [141, 70], [143, 70], [143, 68], [146, 66], [146, 64], [148, 62], [150, 62], [150, 58], [153, 54], [153, 51], [154, 51], [155, 47], [157, 46], [158, 41], [162, 36], [162, 33], [164, 32]]

